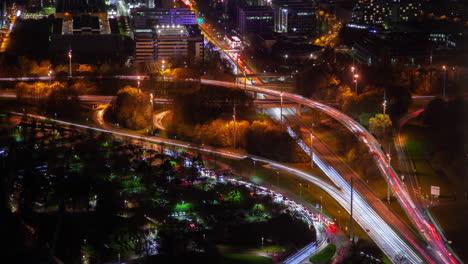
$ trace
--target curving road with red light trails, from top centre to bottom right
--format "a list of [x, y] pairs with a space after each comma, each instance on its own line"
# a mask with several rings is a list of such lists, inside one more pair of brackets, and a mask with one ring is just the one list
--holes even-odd
[[[192, 0], [183, 0], [183, 2], [191, 9], [195, 9], [196, 5], [192, 4]], [[236, 73], [242, 72], [242, 68], [246, 74], [254, 73], [254, 71], [251, 68], [249, 68], [248, 65], [246, 65], [246, 63], [242, 61], [242, 58], [240, 58], [239, 54], [224, 52], [225, 45], [223, 43], [220, 43], [220, 41], [217, 40], [216, 33], [215, 33], [215, 37], [212, 37], [212, 34], [210, 34], [211, 32], [209, 30], [210, 29], [209, 25], [207, 25], [206, 23], [203, 23], [200, 28], [202, 29], [206, 38], [210, 42], [212, 42], [215, 46], [217, 46], [219, 50], [223, 52], [228, 57], [228, 59], [230, 59], [231, 63], [236, 65]], [[241, 71], [239, 71], [239, 67], [241, 68]], [[213, 82], [216, 82], [216, 81], [211, 81], [211, 83]], [[215, 85], [233, 87], [232, 84], [227, 84], [227, 83], [222, 84], [222, 83], [224, 82], [217, 82], [217, 84]], [[208, 84], [208, 82], [205, 82], [205, 84]], [[249, 86], [248, 90], [250, 91], [256, 91], [259, 93], [264, 93], [264, 94], [273, 95], [273, 96], [280, 96], [280, 92], [278, 91], [244, 84], [245, 89], [247, 89], [247, 86]], [[236, 87], [233, 87], [233, 88], [236, 88]], [[359, 138], [359, 140], [362, 141], [362, 143], [367, 145], [367, 147], [369, 148], [369, 152], [373, 154], [375, 157], [376, 165], [379, 171], [381, 172], [384, 179], [387, 181], [387, 184], [390, 185], [391, 189], [393, 190], [393, 193], [398, 199], [398, 202], [400, 203], [402, 208], [405, 210], [408, 217], [413, 221], [413, 223], [415, 224], [415, 226], [417, 227], [421, 235], [430, 244], [432, 252], [426, 252], [426, 250], [418, 249], [418, 251], [423, 255], [426, 255], [426, 253], [431, 254], [431, 257], [426, 257], [427, 261], [435, 261], [436, 263], [459, 263], [461, 262], [460, 260], [457, 260], [454, 255], [452, 255], [453, 251], [449, 248], [447, 241], [442, 238], [442, 236], [440, 235], [440, 232], [438, 232], [438, 230], [436, 230], [436, 228], [434, 227], [434, 223], [432, 222], [432, 219], [428, 217], [427, 214], [425, 214], [424, 208], [417, 207], [417, 205], [413, 202], [410, 195], [405, 190], [405, 187], [403, 186], [397, 173], [392, 168], [390, 162], [387, 160], [387, 156], [383, 152], [380, 143], [363, 126], [361, 126], [358, 122], [356, 122], [354, 119], [350, 118], [349, 116], [341, 113], [340, 111], [332, 107], [329, 107], [327, 105], [321, 104], [317, 101], [312, 101], [310, 99], [307, 99], [307, 98], [304, 98], [302, 96], [295, 95], [292, 93], [281, 92], [281, 95], [283, 96], [283, 98], [293, 100], [304, 106], [307, 106], [313, 109], [318, 109], [328, 114], [329, 116], [339, 121], [346, 128], [348, 128], [353, 134], [356, 135], [356, 137]], [[413, 243], [413, 246], [417, 247], [417, 245], [414, 243]]]

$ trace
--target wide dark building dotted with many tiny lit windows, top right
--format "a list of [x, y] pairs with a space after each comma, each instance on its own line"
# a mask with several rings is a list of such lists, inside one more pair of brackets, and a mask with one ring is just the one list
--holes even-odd
[[356, 24], [382, 24], [417, 19], [421, 2], [416, 0], [359, 0], [354, 6], [351, 22]]

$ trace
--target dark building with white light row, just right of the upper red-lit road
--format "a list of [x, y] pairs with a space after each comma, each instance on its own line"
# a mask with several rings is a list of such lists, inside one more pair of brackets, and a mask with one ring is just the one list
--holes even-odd
[[275, 12], [267, 6], [240, 7], [237, 26], [241, 34], [273, 32]]

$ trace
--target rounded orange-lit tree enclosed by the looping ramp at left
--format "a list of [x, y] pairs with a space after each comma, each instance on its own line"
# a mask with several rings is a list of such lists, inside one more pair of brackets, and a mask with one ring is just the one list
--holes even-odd
[[117, 93], [113, 107], [115, 120], [126, 128], [143, 129], [150, 125], [152, 104], [150, 96], [140, 89], [125, 86]]

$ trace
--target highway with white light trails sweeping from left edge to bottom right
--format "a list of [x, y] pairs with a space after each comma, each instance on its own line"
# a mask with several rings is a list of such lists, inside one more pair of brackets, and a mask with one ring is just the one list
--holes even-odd
[[[100, 111], [96, 111], [96, 120], [99, 122], [103, 122], [103, 113], [104, 109]], [[18, 115], [22, 115], [21, 113], [16, 113]], [[234, 158], [234, 159], [243, 159], [243, 158], [251, 158], [258, 162], [263, 162], [265, 164], [269, 164], [272, 168], [281, 170], [283, 172], [295, 175], [296, 177], [302, 178], [311, 184], [314, 184], [327, 192], [333, 199], [335, 199], [345, 210], [349, 212], [350, 210], [350, 195], [351, 189], [350, 188], [343, 188], [339, 189], [334, 187], [333, 185], [323, 181], [322, 179], [303, 172], [301, 170], [295, 169], [293, 167], [289, 167], [283, 165], [278, 162], [274, 162], [268, 159], [256, 157], [253, 155], [246, 155], [240, 154], [232, 151], [224, 151], [218, 150], [215, 148], [211, 148], [208, 146], [198, 146], [197, 144], [193, 143], [186, 143], [178, 140], [172, 139], [163, 139], [158, 137], [149, 137], [143, 136], [136, 133], [131, 133], [127, 131], [123, 131], [120, 129], [112, 128], [103, 123], [103, 128], [96, 128], [87, 125], [81, 125], [71, 122], [66, 122], [57, 119], [48, 119], [43, 116], [36, 116], [36, 115], [29, 115], [30, 117], [34, 117], [37, 119], [42, 120], [50, 120], [53, 122], [57, 122], [60, 124], [74, 126], [84, 129], [91, 129], [96, 130], [99, 132], [104, 133], [111, 133], [116, 136], [123, 136], [123, 137], [130, 137], [137, 140], [144, 140], [147, 142], [153, 142], [158, 144], [166, 144], [175, 147], [181, 147], [185, 149], [192, 149], [197, 151], [203, 151], [207, 153], [214, 153], [221, 156]], [[100, 121], [99, 121], [100, 120]], [[327, 173], [327, 174], [336, 174], [333, 168], [326, 166], [325, 164], [321, 163], [320, 160], [315, 160], [316, 163]], [[345, 183], [345, 182], [344, 182]], [[341, 184], [346, 186], [345, 184]], [[400, 236], [380, 217], [373, 208], [366, 202], [365, 199], [362, 198], [358, 193], [354, 192], [354, 219], [355, 221], [364, 229], [369, 230], [368, 235], [376, 242], [376, 244], [384, 251], [384, 253], [392, 260], [397, 259], [399, 256], [405, 256], [406, 259], [410, 263], [424, 263], [424, 261], [414, 252], [414, 250], [409, 246]], [[429, 261], [429, 263], [433, 263]]]

